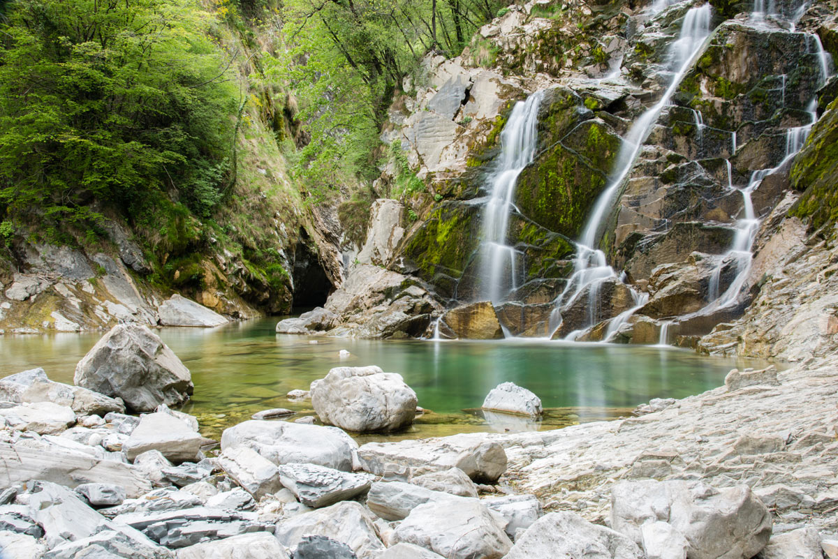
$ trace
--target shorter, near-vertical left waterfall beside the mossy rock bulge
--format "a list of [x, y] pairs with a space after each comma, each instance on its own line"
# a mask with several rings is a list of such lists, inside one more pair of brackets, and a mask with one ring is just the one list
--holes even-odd
[[[489, 179], [492, 184], [486, 203], [481, 238], [481, 274], [484, 300], [497, 303], [516, 288], [515, 259], [518, 254], [507, 244], [510, 214], [518, 176], [532, 162], [538, 140], [538, 110], [543, 91], [515, 104], [510, 119], [500, 133], [498, 168]], [[510, 281], [504, 278], [509, 274]]]

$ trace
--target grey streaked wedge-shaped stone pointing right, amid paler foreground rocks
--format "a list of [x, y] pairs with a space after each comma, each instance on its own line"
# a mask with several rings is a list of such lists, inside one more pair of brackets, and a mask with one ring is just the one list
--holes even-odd
[[303, 505], [318, 509], [352, 499], [370, 490], [367, 475], [347, 474], [314, 464], [286, 464], [279, 469], [282, 485]]

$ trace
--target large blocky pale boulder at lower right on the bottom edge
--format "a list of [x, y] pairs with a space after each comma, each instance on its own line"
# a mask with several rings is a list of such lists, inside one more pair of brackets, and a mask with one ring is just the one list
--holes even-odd
[[700, 481], [629, 481], [613, 486], [611, 503], [614, 530], [649, 546], [674, 540], [644, 538], [644, 524], [666, 522], [685, 538], [690, 559], [751, 559], [768, 543], [773, 525], [768, 507], [747, 485], [716, 490]]

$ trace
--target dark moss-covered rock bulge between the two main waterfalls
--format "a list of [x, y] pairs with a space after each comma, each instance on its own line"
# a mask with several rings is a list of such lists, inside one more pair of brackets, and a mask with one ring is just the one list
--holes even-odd
[[577, 238], [620, 146], [603, 121], [585, 121], [541, 152], [518, 179], [515, 204], [541, 227]]

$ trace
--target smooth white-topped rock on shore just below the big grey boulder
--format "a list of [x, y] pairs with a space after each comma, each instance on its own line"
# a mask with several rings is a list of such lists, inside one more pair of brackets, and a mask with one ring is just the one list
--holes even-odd
[[129, 460], [148, 450], [157, 450], [172, 462], [194, 460], [204, 438], [186, 423], [168, 413], [148, 413], [140, 418], [122, 450]]

